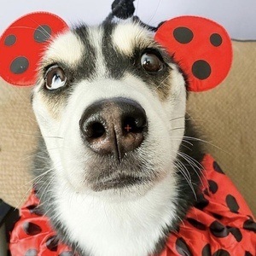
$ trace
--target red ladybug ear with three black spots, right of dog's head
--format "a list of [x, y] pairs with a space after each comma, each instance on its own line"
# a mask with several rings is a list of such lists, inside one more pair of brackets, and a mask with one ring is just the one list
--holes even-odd
[[155, 39], [173, 56], [188, 78], [188, 90], [209, 90], [230, 71], [232, 45], [224, 28], [212, 20], [180, 16], [163, 22]]

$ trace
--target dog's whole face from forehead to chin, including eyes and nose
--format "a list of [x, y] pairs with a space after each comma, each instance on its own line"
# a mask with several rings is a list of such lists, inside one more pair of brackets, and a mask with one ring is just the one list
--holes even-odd
[[143, 195], [166, 177], [175, 182], [185, 104], [172, 57], [132, 21], [55, 38], [32, 96], [57, 180], [97, 195]]

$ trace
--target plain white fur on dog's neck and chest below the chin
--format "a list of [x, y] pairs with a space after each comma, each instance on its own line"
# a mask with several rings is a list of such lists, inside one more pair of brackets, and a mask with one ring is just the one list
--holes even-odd
[[175, 218], [172, 175], [133, 201], [78, 195], [65, 182], [55, 189], [58, 218], [67, 225], [69, 236], [94, 256], [148, 256], [162, 229]]

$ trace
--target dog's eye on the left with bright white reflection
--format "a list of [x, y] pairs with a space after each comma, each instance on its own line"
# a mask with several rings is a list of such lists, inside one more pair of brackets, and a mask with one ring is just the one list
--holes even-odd
[[58, 66], [49, 67], [45, 74], [45, 86], [48, 90], [58, 89], [66, 84], [67, 76]]

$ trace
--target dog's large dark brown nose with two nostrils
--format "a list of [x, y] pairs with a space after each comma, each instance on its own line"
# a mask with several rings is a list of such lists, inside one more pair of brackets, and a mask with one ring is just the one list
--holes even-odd
[[148, 132], [143, 107], [130, 99], [117, 97], [95, 102], [79, 121], [85, 142], [98, 154], [113, 154], [121, 160], [138, 148]]

